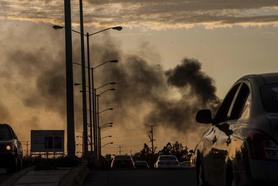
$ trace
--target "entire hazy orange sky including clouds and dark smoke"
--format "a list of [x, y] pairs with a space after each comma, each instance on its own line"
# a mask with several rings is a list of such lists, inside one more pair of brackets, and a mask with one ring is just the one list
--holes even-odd
[[[80, 31], [79, 1], [71, 1], [71, 14]], [[112, 136], [102, 144], [113, 142], [102, 154], [119, 153], [116, 144], [129, 154], [150, 146], [145, 124], [159, 125], [156, 150], [175, 141], [193, 149], [209, 127], [195, 122], [198, 110], [215, 113], [244, 75], [276, 72], [277, 18], [275, 0], [83, 1], [85, 33], [123, 28], [89, 38], [91, 66], [119, 61], [94, 71], [95, 86], [117, 83], [98, 92], [116, 89], [99, 100], [100, 111], [113, 108], [100, 113], [100, 125], [114, 123], [101, 131]], [[30, 130], [66, 131], [65, 32], [52, 28], [64, 26], [64, 1], [0, 1], [0, 22], [0, 123], [22, 141], [30, 141]], [[72, 46], [73, 62], [81, 63], [78, 33]], [[73, 69], [81, 83], [80, 66]], [[74, 86], [76, 131], [83, 130], [80, 90]]]

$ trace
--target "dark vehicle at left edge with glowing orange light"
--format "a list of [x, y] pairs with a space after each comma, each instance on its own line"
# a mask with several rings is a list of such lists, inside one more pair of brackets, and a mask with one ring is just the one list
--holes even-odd
[[8, 168], [10, 172], [22, 169], [22, 145], [17, 139], [12, 127], [0, 124], [0, 167]]

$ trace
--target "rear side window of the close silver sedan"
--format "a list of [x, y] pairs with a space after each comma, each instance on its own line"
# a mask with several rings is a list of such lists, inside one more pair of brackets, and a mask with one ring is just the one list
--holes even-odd
[[246, 102], [246, 98], [248, 97], [249, 94], [250, 94], [250, 90], [248, 85], [246, 83], [243, 83], [237, 94], [237, 98], [235, 99], [229, 120], [237, 120], [240, 117], [240, 114], [242, 113], [244, 107], [244, 103]]

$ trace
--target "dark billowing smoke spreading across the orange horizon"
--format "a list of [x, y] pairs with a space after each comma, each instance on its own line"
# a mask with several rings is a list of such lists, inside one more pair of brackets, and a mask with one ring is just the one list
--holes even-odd
[[[10, 124], [19, 139], [25, 141], [30, 139], [29, 130], [66, 131], [64, 32], [50, 31], [48, 24], [42, 28], [45, 30], [41, 32], [24, 30], [24, 34], [31, 39], [21, 38], [16, 32], [6, 33], [7, 37], [20, 40], [21, 45], [7, 42], [4, 44], [5, 50], [1, 52], [5, 56], [1, 59], [0, 69], [1, 123]], [[102, 135], [112, 133], [113, 137], [117, 137], [143, 134], [148, 129], [125, 132], [118, 132], [117, 129], [139, 129], [145, 124], [158, 124], [159, 127], [154, 131], [157, 143], [166, 145], [167, 142], [185, 140], [185, 145], [196, 144], [208, 127], [195, 122], [197, 111], [211, 109], [215, 112], [220, 103], [215, 94], [214, 80], [202, 71], [201, 62], [184, 54], [184, 59], [178, 65], [164, 69], [159, 64], [160, 56], [153, 53], [147, 43], [138, 44], [137, 54], [129, 54], [122, 51], [119, 43], [112, 41], [109, 36], [101, 39], [104, 40], [90, 40], [91, 66], [113, 59], [119, 61], [94, 70], [95, 88], [109, 82], [117, 83], [98, 90], [101, 93], [107, 89], [116, 89], [103, 93], [99, 98], [100, 111], [114, 108], [113, 111], [100, 113], [100, 125], [114, 123], [113, 128], [109, 128], [110, 131], [106, 128]], [[81, 63], [80, 39], [73, 39], [72, 46], [73, 62]], [[73, 68], [74, 83], [81, 83], [81, 67], [73, 65]], [[76, 131], [83, 129], [81, 88], [74, 87]], [[134, 145], [148, 142], [149, 138], [146, 134], [109, 140], [115, 144]]]

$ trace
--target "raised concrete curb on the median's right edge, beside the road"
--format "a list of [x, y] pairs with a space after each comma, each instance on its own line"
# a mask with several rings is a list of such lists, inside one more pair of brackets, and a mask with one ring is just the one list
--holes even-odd
[[79, 167], [72, 167], [67, 175], [61, 180], [59, 186], [82, 186], [84, 178], [89, 173], [87, 159], [82, 159]]

